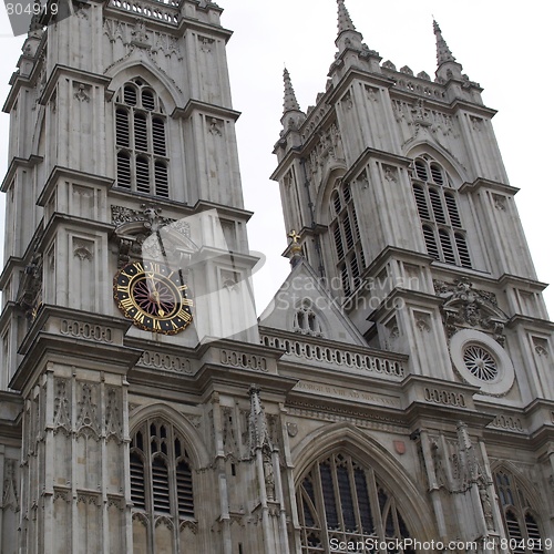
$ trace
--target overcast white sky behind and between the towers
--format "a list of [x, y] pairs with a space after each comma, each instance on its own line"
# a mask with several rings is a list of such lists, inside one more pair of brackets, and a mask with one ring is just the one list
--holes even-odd
[[[499, 110], [493, 123], [538, 279], [553, 281], [545, 298], [554, 314], [554, 260], [551, 236], [554, 218], [552, 157], [554, 115], [550, 106], [551, 22], [554, 8], [545, 0], [522, 4], [505, 0], [346, 0], [365, 42], [397, 68], [414, 73], [435, 70], [432, 17], [471, 80], [484, 88], [485, 104]], [[235, 31], [228, 45], [234, 107], [246, 207], [255, 212], [249, 224], [250, 248], [267, 256], [255, 276], [260, 312], [288, 273], [280, 258], [287, 239], [278, 185], [268, 176], [283, 111], [283, 69], [290, 71], [302, 110], [325, 90], [335, 55], [335, 0], [219, 0], [223, 24]], [[16, 68], [22, 38], [11, 30], [0, 9], [0, 96]], [[1, 116], [0, 172], [6, 171], [8, 116]]]

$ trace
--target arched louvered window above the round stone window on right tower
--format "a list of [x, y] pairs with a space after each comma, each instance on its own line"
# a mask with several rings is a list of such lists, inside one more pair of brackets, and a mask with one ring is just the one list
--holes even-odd
[[416, 158], [413, 168], [413, 197], [427, 253], [445, 264], [472, 267], [458, 209], [458, 193], [452, 188], [449, 175], [428, 155]]

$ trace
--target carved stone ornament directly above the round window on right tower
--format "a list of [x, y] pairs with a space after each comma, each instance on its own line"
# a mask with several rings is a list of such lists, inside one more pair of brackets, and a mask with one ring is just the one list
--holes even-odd
[[465, 277], [453, 283], [433, 280], [433, 285], [437, 296], [444, 300], [441, 312], [449, 338], [460, 328], [481, 327], [492, 331], [494, 340], [504, 346], [509, 317], [497, 307], [494, 294], [474, 289]]

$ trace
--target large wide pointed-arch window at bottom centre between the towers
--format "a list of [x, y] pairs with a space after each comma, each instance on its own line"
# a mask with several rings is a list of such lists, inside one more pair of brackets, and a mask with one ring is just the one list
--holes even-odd
[[302, 554], [328, 554], [334, 542], [411, 536], [394, 497], [371, 468], [349, 454], [337, 452], [316, 462], [296, 495]]

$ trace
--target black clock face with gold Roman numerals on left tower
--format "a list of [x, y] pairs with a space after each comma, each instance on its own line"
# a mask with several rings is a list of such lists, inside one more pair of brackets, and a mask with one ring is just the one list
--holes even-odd
[[181, 271], [153, 261], [134, 261], [113, 279], [113, 297], [125, 317], [141, 329], [175, 335], [193, 320]]

